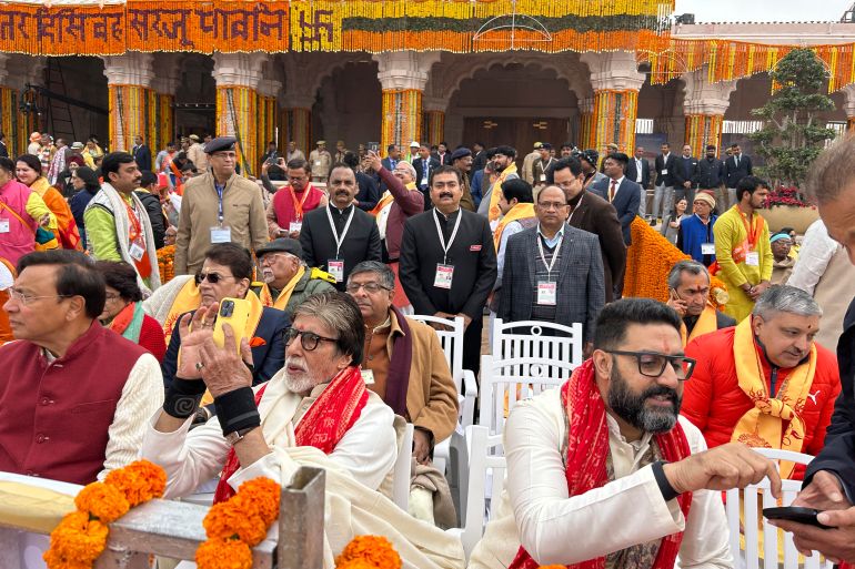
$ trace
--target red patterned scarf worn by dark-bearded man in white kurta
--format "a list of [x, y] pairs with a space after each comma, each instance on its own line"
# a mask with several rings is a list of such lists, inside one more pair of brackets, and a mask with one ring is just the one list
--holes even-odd
[[[561, 402], [570, 419], [567, 433], [566, 476], [570, 496], [579, 496], [608, 482], [606, 459], [608, 458], [608, 425], [605, 418], [605, 403], [596, 386], [594, 360], [579, 366], [570, 379], [561, 386]], [[662, 458], [670, 463], [691, 455], [683, 427], [677, 423], [667, 433], [655, 435]], [[688, 517], [692, 492], [677, 497], [683, 517]], [[683, 532], [662, 538], [652, 569], [673, 569], [683, 541]], [[529, 552], [520, 547], [509, 569], [537, 569]], [[604, 569], [605, 556], [567, 566], [571, 569]]]

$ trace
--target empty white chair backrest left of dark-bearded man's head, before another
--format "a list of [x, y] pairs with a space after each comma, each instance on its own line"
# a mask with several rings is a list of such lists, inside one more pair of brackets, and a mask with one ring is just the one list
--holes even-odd
[[517, 402], [563, 384], [573, 373], [569, 362], [540, 357], [496, 359], [481, 356], [481, 414], [477, 424], [501, 435], [505, 417]]

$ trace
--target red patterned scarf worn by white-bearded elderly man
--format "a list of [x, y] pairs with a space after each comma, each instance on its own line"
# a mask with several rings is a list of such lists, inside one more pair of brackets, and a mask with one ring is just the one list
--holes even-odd
[[[284, 380], [284, 379], [283, 379]], [[268, 384], [255, 393], [255, 406], [261, 403]], [[359, 366], [345, 367], [332, 378], [321, 395], [305, 411], [294, 428], [294, 438], [299, 447], [314, 447], [329, 455], [360, 418], [369, 402], [369, 392]], [[214, 504], [234, 496], [229, 486], [229, 478], [241, 467], [234, 448], [229, 450], [225, 466], [220, 475], [220, 484], [214, 492]]]

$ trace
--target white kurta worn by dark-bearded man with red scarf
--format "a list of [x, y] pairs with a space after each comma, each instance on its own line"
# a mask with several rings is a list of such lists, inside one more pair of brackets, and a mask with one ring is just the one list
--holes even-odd
[[[506, 568], [522, 542], [541, 565], [571, 565], [683, 531], [682, 568], [731, 568], [721, 492], [694, 492], [688, 519], [677, 500], [665, 501], [650, 466], [637, 461], [651, 436], [627, 443], [608, 419], [615, 480], [570, 497], [561, 455], [567, 436], [561, 390], [514, 407], [505, 424], [505, 490], [472, 553], [470, 569]], [[701, 431], [680, 417], [692, 453], [706, 450]]]

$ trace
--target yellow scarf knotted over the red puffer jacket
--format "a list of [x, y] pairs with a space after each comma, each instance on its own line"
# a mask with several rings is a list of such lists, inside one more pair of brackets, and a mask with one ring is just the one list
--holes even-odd
[[[752, 400], [752, 407], [743, 415], [731, 436], [732, 443], [750, 447], [781, 448], [802, 451], [805, 440], [805, 423], [797, 409], [803, 409], [816, 374], [816, 346], [811, 344], [807, 362], [793, 368], [772, 397], [763, 374], [758, 346], [754, 343], [753, 316], [742, 321], [733, 335], [733, 358], [740, 389]], [[784, 425], [786, 424], [786, 428]], [[781, 477], [789, 478], [795, 465], [781, 461]]]

